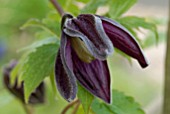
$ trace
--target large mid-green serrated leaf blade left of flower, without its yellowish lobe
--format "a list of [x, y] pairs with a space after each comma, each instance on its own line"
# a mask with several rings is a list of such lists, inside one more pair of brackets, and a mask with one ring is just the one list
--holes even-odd
[[58, 47], [59, 45], [57, 44], [42, 45], [28, 55], [27, 61], [23, 65], [21, 76], [24, 81], [26, 102], [28, 102], [30, 94], [44, 78], [51, 75]]

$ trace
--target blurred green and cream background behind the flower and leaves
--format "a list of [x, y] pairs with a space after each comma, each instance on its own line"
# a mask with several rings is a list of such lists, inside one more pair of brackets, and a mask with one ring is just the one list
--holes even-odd
[[[19, 28], [29, 18], [44, 18], [49, 10], [48, 5], [47, 0], [0, 0], [0, 68], [11, 59], [19, 59], [22, 53], [17, 53], [17, 50], [35, 40], [33, 31], [36, 29], [22, 31]], [[144, 50], [150, 62], [150, 66], [146, 69], [141, 69], [136, 61], [130, 65], [118, 54], [110, 57], [112, 87], [135, 97], [147, 114], [160, 114], [168, 0], [139, 0], [125, 15], [153, 19], [158, 24], [160, 42]], [[145, 38], [145, 32], [147, 31], [142, 31], [139, 35]], [[36, 106], [35, 111], [37, 114], [58, 114], [66, 102], [60, 98], [53, 100], [51, 89], [47, 87], [47, 91], [47, 102], [45, 105]], [[0, 71], [0, 114], [25, 114], [20, 102], [3, 87], [2, 70]]]

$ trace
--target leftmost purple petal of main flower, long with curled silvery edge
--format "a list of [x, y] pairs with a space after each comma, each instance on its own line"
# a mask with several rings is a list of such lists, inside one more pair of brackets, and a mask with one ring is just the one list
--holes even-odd
[[55, 64], [55, 76], [60, 94], [70, 102], [76, 97], [77, 85], [73, 74], [70, 39], [66, 37], [62, 33], [61, 47]]

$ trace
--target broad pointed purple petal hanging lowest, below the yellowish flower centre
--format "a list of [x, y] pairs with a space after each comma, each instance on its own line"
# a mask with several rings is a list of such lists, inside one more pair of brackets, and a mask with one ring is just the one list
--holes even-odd
[[94, 60], [91, 63], [82, 62], [76, 53], [72, 53], [74, 74], [77, 80], [95, 96], [110, 103], [110, 73], [106, 61]]

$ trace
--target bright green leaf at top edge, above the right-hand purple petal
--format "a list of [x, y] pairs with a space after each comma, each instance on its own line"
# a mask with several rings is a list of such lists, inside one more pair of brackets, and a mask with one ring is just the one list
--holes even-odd
[[137, 0], [111, 0], [109, 4], [109, 15], [111, 18], [118, 18], [128, 11]]

